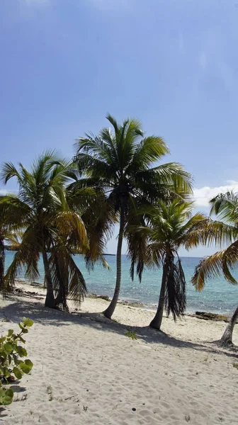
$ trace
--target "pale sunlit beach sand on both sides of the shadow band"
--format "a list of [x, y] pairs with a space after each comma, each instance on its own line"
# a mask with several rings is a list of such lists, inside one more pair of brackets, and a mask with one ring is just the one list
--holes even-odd
[[41, 295], [1, 300], [2, 333], [23, 316], [35, 322], [26, 335], [34, 367], [16, 382], [3, 424], [238, 424], [237, 353], [209, 342], [224, 322], [164, 318], [164, 334], [147, 328], [147, 310], [118, 305], [115, 322], [97, 313], [106, 301], [87, 298], [68, 314], [45, 309], [42, 290], [27, 289]]

